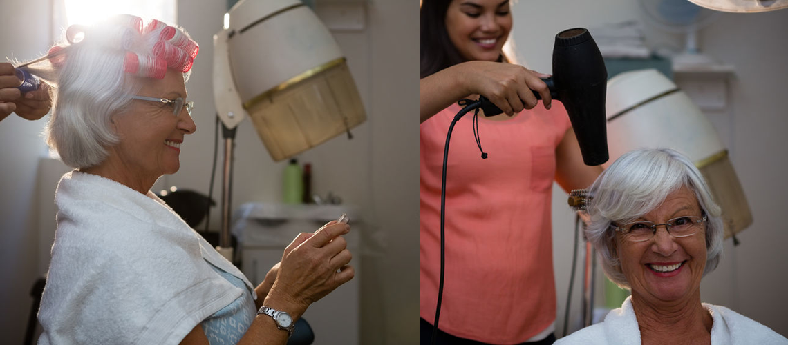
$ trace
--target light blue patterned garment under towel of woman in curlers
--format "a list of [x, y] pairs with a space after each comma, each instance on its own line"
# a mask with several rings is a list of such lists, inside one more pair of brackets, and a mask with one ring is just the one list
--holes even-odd
[[238, 288], [242, 288], [244, 293], [228, 306], [221, 308], [216, 314], [211, 315], [203, 321], [203, 332], [211, 345], [229, 345], [238, 343], [246, 333], [251, 321], [255, 320], [257, 309], [255, 300], [251, 297], [243, 281], [223, 270], [220, 270], [210, 262], [206, 262], [217, 273], [221, 274], [227, 281]]

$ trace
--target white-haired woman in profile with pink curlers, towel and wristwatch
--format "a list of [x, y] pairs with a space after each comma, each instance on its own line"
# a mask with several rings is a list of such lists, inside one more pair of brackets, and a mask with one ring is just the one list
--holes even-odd
[[149, 191], [196, 130], [185, 80], [199, 46], [132, 16], [66, 39], [28, 66], [54, 87], [47, 141], [76, 168], [55, 196], [39, 343], [286, 343], [310, 303], [353, 277], [349, 227], [301, 233], [253, 285]]

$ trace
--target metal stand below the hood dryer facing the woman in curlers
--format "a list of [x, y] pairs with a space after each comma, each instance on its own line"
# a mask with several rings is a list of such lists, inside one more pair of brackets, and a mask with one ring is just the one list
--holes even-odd
[[225, 259], [232, 262], [232, 237], [230, 236], [230, 200], [232, 199], [232, 149], [236, 138], [236, 128], [227, 128], [221, 123], [221, 138], [225, 140], [225, 164], [221, 174], [221, 232], [219, 246], [216, 248]]

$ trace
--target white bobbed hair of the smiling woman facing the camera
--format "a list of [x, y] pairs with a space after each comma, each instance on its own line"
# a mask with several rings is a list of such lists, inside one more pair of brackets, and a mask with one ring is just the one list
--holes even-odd
[[703, 275], [716, 269], [723, 252], [723, 220], [701, 171], [673, 149], [639, 149], [615, 160], [589, 187], [591, 222], [585, 237], [600, 255], [605, 275], [621, 288], [630, 289], [615, 249], [613, 222], [630, 222], [659, 207], [682, 187], [695, 194], [708, 216], [706, 266]]

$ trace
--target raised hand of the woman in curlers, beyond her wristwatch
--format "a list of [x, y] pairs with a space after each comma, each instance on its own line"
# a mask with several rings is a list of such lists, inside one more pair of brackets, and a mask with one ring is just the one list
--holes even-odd
[[274, 272], [276, 279], [263, 304], [287, 311], [296, 320], [311, 303], [350, 281], [355, 272], [348, 266], [352, 255], [341, 237], [349, 231], [347, 224], [332, 221], [314, 233], [300, 233], [284, 249]]

